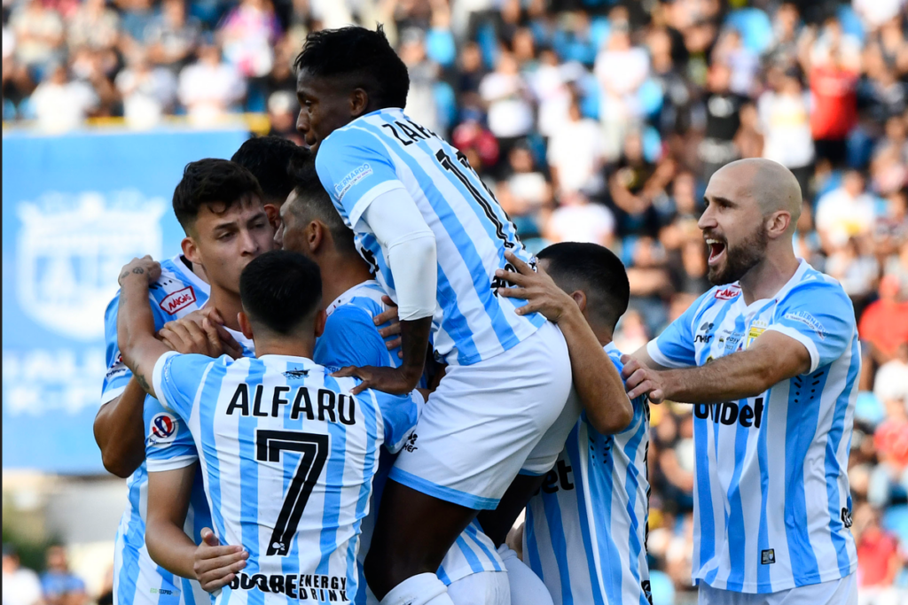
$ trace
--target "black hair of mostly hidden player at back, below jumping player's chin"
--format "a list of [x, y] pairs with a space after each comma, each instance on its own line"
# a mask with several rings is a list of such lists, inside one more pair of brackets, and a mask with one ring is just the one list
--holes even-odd
[[235, 161], [255, 175], [265, 196], [282, 204], [293, 190], [291, 161], [306, 161], [311, 151], [283, 137], [254, 137], [233, 154]]

